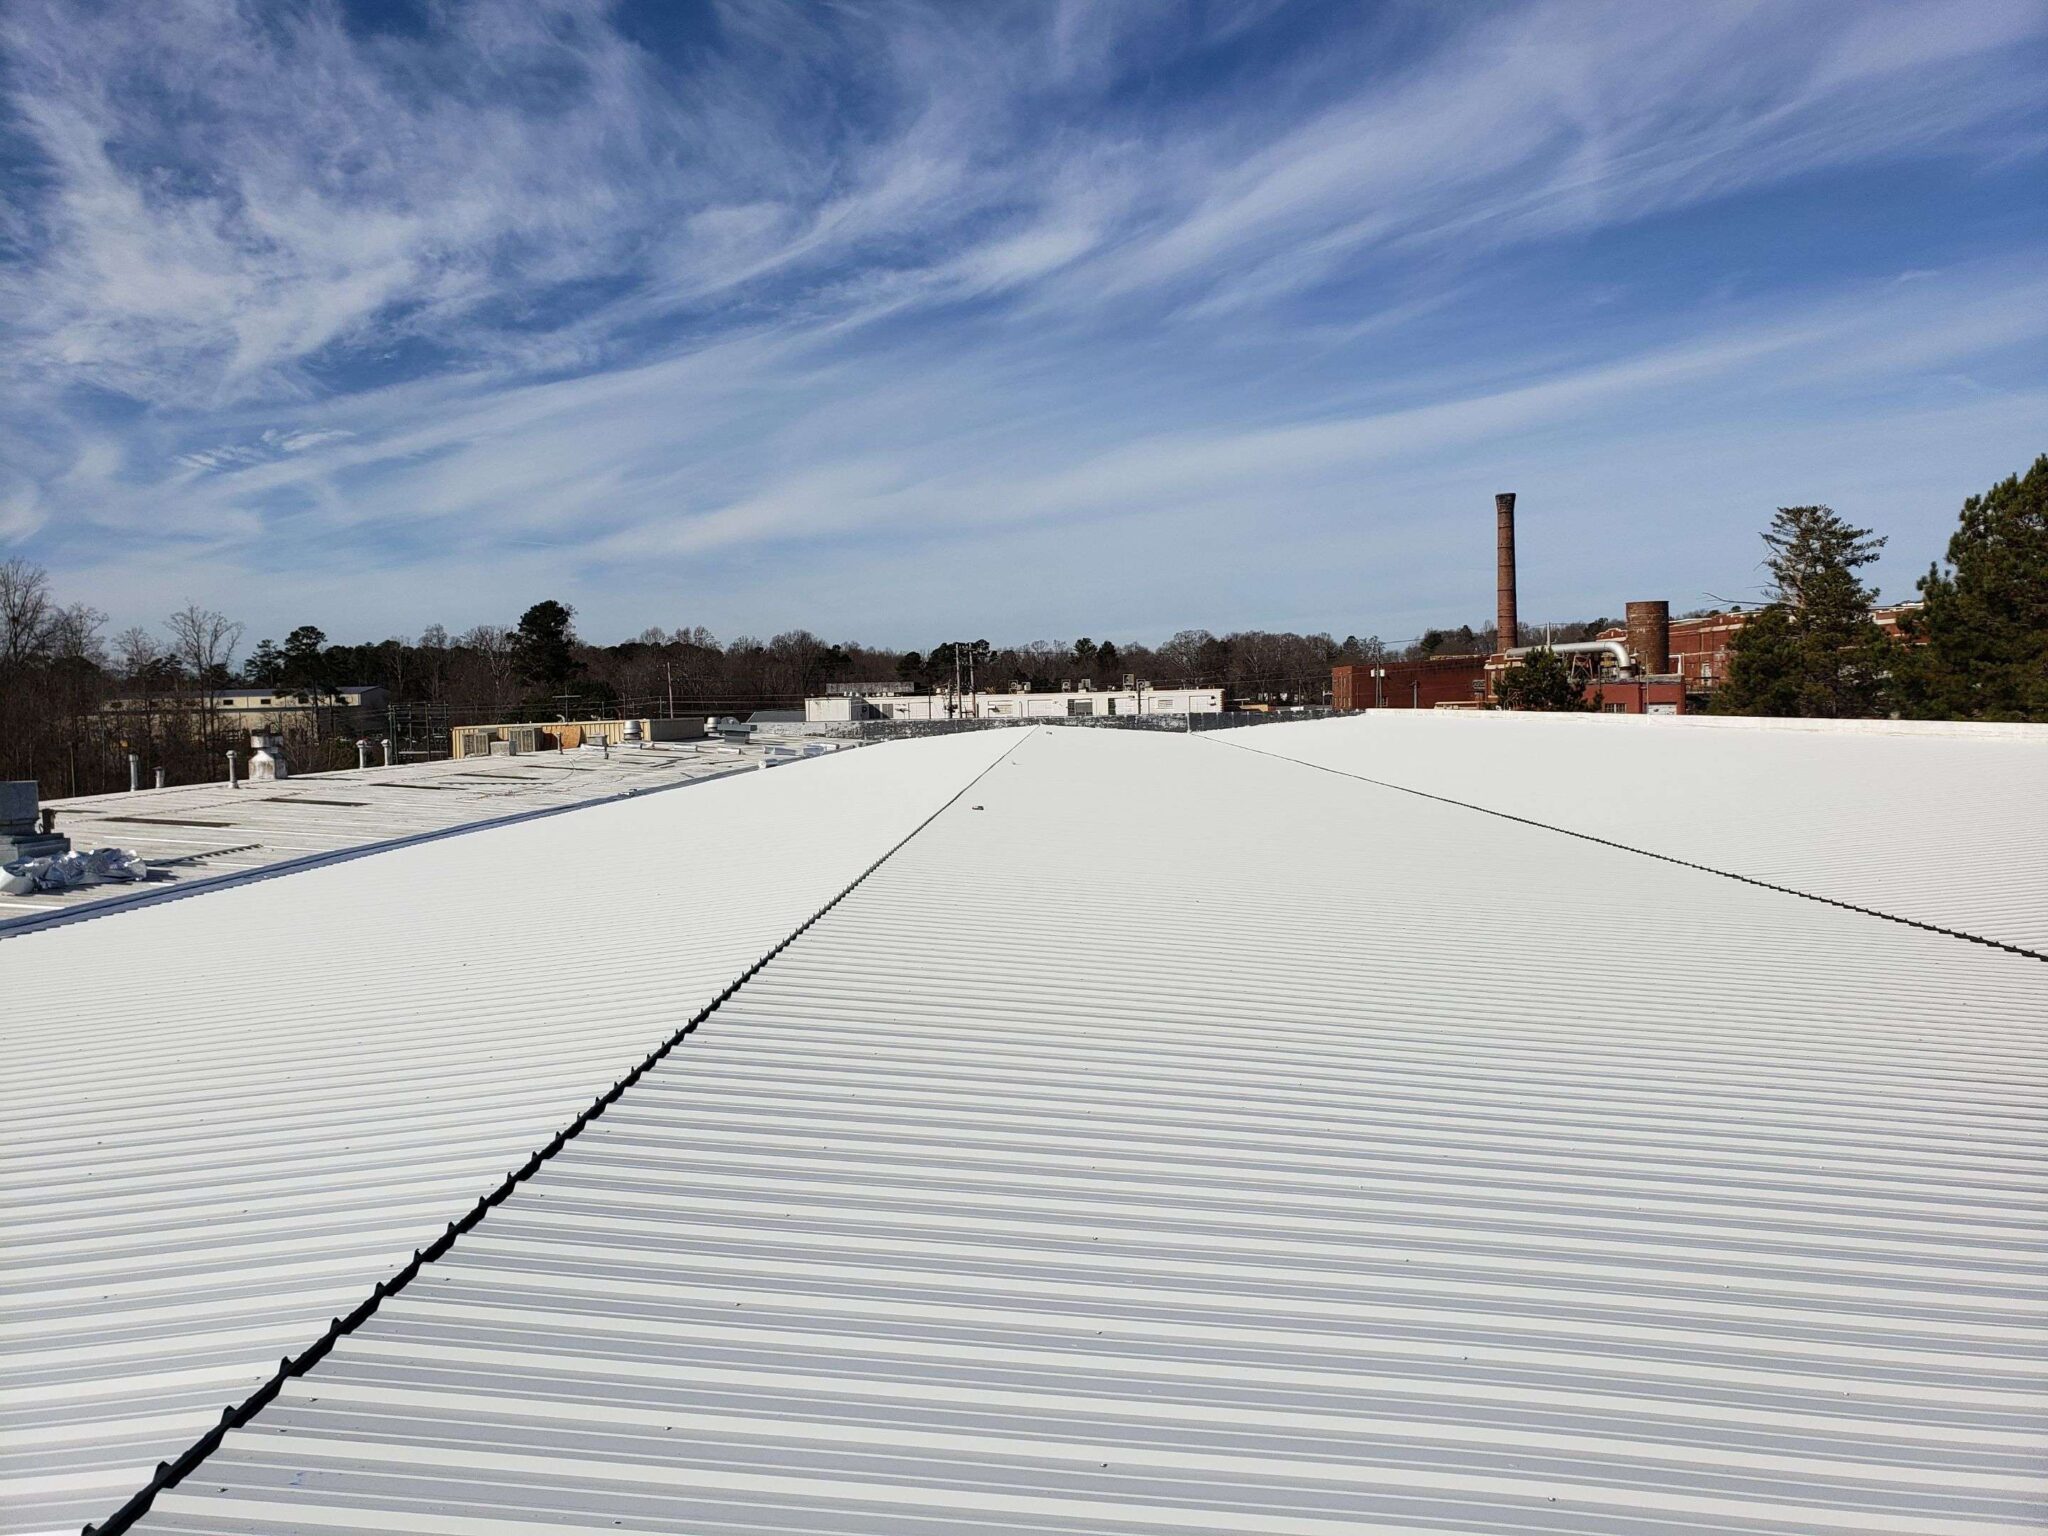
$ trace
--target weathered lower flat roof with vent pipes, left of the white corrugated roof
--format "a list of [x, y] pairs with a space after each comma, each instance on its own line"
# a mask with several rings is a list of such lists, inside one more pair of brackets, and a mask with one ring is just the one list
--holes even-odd
[[758, 768], [764, 756], [752, 745], [664, 743], [43, 801], [74, 848], [131, 848], [150, 860], [154, 874], [139, 887], [0, 893], [0, 934], [59, 909], [133, 901], [369, 844], [694, 784]]

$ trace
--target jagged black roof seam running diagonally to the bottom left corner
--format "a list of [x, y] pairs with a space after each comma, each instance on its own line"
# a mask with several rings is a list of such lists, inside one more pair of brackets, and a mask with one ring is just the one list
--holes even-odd
[[[879, 870], [883, 864], [887, 864], [891, 858], [895, 858], [899, 852], [903, 852], [903, 848], [907, 848], [909, 842], [920, 831], [924, 831], [926, 827], [930, 827], [934, 821], [938, 821], [938, 817], [942, 817], [946, 811], [950, 811], [954, 805], [958, 805], [961, 799], [967, 795], [967, 791], [971, 791], [975, 784], [979, 784], [983, 778], [987, 778], [991, 772], [995, 772], [1001, 764], [1006, 764], [1016, 754], [1016, 750], [1022, 748], [1024, 741], [1028, 741], [1032, 735], [1036, 735], [1036, 727], [1030, 729], [1030, 731], [1024, 731], [1018, 737], [1018, 741], [1008, 752], [1004, 752], [999, 758], [995, 758], [993, 762], [989, 762], [981, 772], [977, 772], [973, 778], [969, 778], [965, 784], [961, 784], [961, 788], [956, 788], [950, 797], [946, 797], [946, 801], [942, 805], [938, 805], [928, 817], [924, 817], [915, 827], [911, 827], [909, 831], [905, 831], [872, 864], [868, 864], [852, 881], [848, 881], [829, 901], [825, 901], [825, 905], [821, 905], [817, 911], [813, 911], [809, 918], [805, 918], [801, 924], [797, 924], [797, 928], [793, 928], [788, 934], [784, 934], [782, 940], [774, 948], [770, 948], [766, 954], [762, 954], [758, 961], [754, 961], [754, 965], [750, 965], [731, 983], [727, 983], [727, 987], [717, 997], [713, 997], [709, 1004], [705, 1004], [696, 1014], [690, 1016], [688, 1022], [684, 1022], [680, 1028], [676, 1028], [653, 1051], [649, 1051], [641, 1059], [641, 1063], [637, 1067], [633, 1067], [633, 1071], [629, 1071], [625, 1077], [621, 1077], [616, 1083], [612, 1083], [604, 1094], [600, 1094], [596, 1100], [592, 1100], [590, 1106], [584, 1108], [584, 1112], [575, 1116], [575, 1120], [571, 1120], [567, 1126], [563, 1126], [561, 1130], [557, 1130], [555, 1137], [545, 1147], [541, 1147], [539, 1151], [535, 1151], [516, 1169], [512, 1169], [510, 1174], [506, 1174], [504, 1180], [500, 1180], [494, 1190], [489, 1190], [487, 1194], [479, 1196], [477, 1202], [463, 1217], [459, 1217], [457, 1221], [451, 1221], [449, 1227], [446, 1227], [446, 1231], [440, 1233], [440, 1237], [436, 1237], [426, 1247], [414, 1249], [412, 1260], [401, 1270], [397, 1270], [387, 1280], [379, 1280], [371, 1288], [369, 1296], [365, 1296], [344, 1317], [336, 1317], [328, 1325], [328, 1331], [322, 1333], [317, 1339], [313, 1339], [313, 1343], [309, 1343], [305, 1350], [301, 1350], [295, 1356], [281, 1358], [276, 1370], [270, 1374], [268, 1380], [262, 1382], [262, 1386], [258, 1386], [254, 1393], [250, 1393], [240, 1403], [233, 1403], [227, 1409], [223, 1409], [221, 1411], [221, 1421], [217, 1425], [213, 1425], [211, 1430], [207, 1430], [207, 1434], [203, 1434], [190, 1446], [186, 1446], [184, 1452], [180, 1452], [174, 1460], [158, 1462], [156, 1473], [152, 1475], [152, 1479], [141, 1489], [137, 1489], [135, 1495], [129, 1497], [127, 1503], [123, 1503], [119, 1509], [115, 1509], [111, 1516], [106, 1516], [104, 1522], [100, 1522], [100, 1524], [88, 1522], [84, 1526], [84, 1536], [121, 1536], [121, 1532], [127, 1532], [137, 1520], [141, 1520], [145, 1513], [150, 1513], [150, 1507], [156, 1503], [156, 1497], [160, 1493], [166, 1493], [168, 1489], [178, 1487], [178, 1483], [182, 1483], [186, 1477], [190, 1477], [195, 1470], [199, 1470], [199, 1466], [215, 1450], [221, 1448], [221, 1442], [227, 1438], [229, 1430], [240, 1430], [250, 1419], [254, 1419], [258, 1413], [262, 1413], [262, 1409], [266, 1409], [276, 1399], [276, 1395], [285, 1389], [287, 1380], [291, 1380], [293, 1376], [303, 1376], [305, 1372], [309, 1372], [313, 1366], [317, 1366], [334, 1350], [334, 1346], [340, 1339], [348, 1337], [358, 1327], [362, 1327], [365, 1323], [369, 1323], [377, 1315], [377, 1311], [383, 1307], [385, 1298], [399, 1294], [406, 1286], [410, 1286], [420, 1276], [420, 1272], [428, 1264], [432, 1264], [434, 1260], [438, 1260], [440, 1255], [444, 1255], [451, 1247], [455, 1247], [455, 1239], [459, 1239], [463, 1233], [467, 1233], [473, 1227], [477, 1227], [483, 1221], [483, 1217], [487, 1217], [492, 1212], [494, 1206], [504, 1204], [504, 1200], [514, 1190], [518, 1190], [518, 1186], [522, 1186], [526, 1180], [530, 1180], [535, 1174], [539, 1174], [547, 1165], [547, 1161], [551, 1157], [555, 1157], [563, 1147], [567, 1147], [571, 1141], [575, 1141], [575, 1137], [580, 1137], [600, 1114], [604, 1114], [604, 1110], [608, 1110], [612, 1104], [616, 1104], [621, 1098], [625, 1098], [625, 1094], [627, 1094], [629, 1087], [633, 1087], [635, 1083], [639, 1083], [641, 1077], [645, 1077], [649, 1071], [653, 1071], [657, 1065], [662, 1065], [662, 1061], [666, 1061], [668, 1055], [678, 1044], [682, 1044], [690, 1034], [694, 1034], [696, 1028], [707, 1018], [711, 1018], [715, 1012], [719, 1012], [719, 1008], [725, 1001], [729, 1001], [733, 997], [733, 993], [737, 993], [741, 987], [745, 987], [756, 975], [762, 973], [762, 969], [766, 969], [778, 954], [782, 954], [782, 950], [786, 950], [791, 944], [795, 944], [799, 938], [803, 938], [819, 920], [823, 920], [834, 907], [838, 907], [842, 901], [846, 901], [846, 897], [850, 897], [870, 874], [874, 874], [874, 870]], [[702, 780], [690, 780], [690, 782], [702, 782]], [[662, 788], [682, 788], [682, 784], [666, 784]], [[653, 788], [647, 788], [647, 791], [627, 791], [627, 795], [618, 795], [618, 797], [610, 797], [610, 799], [627, 799], [631, 795], [651, 795], [651, 793], [655, 793], [655, 791]], [[602, 801], [594, 801], [594, 803], [602, 803]], [[545, 811], [520, 813], [518, 817], [508, 817], [508, 819], [524, 821], [530, 815], [555, 815], [555, 809], [557, 807], [551, 807], [551, 809], [545, 809]], [[573, 805], [573, 807], [559, 807], [559, 809], [573, 811], [573, 809], [584, 809], [584, 807], [582, 805]], [[485, 825], [485, 823], [475, 823], [475, 825]], [[444, 827], [444, 829], [434, 831], [434, 834], [422, 834], [422, 840], [426, 840], [426, 838], [455, 836], [457, 831], [469, 831], [469, 829], [473, 829], [473, 827]], [[403, 842], [414, 842], [414, 840], [408, 838]], [[385, 846], [391, 846], [391, 844], [385, 844]], [[354, 850], [354, 852], [360, 854], [360, 852], [373, 852], [373, 850]], [[272, 866], [272, 870], [264, 870], [264, 872], [274, 872], [274, 866]], [[252, 877], [260, 879], [262, 872], [252, 872]], [[92, 909], [82, 909], [80, 915], [88, 915], [90, 911]]]

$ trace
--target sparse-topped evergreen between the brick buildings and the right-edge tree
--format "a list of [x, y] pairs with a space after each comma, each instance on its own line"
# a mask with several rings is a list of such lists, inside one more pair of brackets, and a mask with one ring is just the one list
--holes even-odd
[[1884, 541], [1827, 506], [1782, 506], [1763, 535], [1772, 602], [1729, 643], [1718, 715], [1882, 715], [1898, 647], [1870, 618], [1855, 571]]

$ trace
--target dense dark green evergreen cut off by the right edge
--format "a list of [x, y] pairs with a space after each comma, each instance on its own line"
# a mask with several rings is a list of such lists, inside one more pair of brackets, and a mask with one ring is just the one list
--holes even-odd
[[2048, 453], [1962, 504], [1948, 565], [1919, 584], [1909, 713], [2048, 721]]

